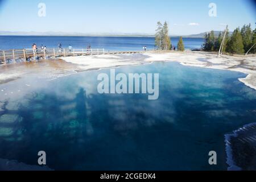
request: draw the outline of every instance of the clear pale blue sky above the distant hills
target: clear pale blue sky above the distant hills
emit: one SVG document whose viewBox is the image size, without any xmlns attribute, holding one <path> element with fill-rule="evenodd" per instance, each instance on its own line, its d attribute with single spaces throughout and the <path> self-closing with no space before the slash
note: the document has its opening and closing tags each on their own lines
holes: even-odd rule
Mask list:
<svg viewBox="0 0 256 182">
<path fill-rule="evenodd" d="M 171 35 L 230 30 L 251 23 L 256 9 L 249 0 L 0 0 L 0 31 L 118 32 L 154 34 L 156 22 L 167 20 Z M 46 17 L 38 4 L 46 4 Z M 216 3 L 217 17 L 210 17 Z M 189 23 L 194 25 L 189 25 Z"/>
</svg>

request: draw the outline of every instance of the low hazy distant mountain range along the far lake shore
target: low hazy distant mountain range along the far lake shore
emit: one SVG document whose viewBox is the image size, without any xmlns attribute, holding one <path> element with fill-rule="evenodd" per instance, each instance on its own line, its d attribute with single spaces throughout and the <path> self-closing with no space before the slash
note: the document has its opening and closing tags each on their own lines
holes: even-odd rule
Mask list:
<svg viewBox="0 0 256 182">
<path fill-rule="evenodd" d="M 221 31 L 214 31 L 214 35 L 218 36 Z M 205 34 L 208 32 L 193 34 L 193 35 L 184 35 L 183 38 L 204 38 Z M 232 32 L 231 32 L 232 33 Z M 141 34 L 141 33 L 88 33 L 84 34 L 81 32 L 11 32 L 11 31 L 0 31 L 0 35 L 11 35 L 11 36 L 154 36 L 152 34 Z M 178 35 L 171 35 L 171 37 L 179 37 Z"/>
</svg>

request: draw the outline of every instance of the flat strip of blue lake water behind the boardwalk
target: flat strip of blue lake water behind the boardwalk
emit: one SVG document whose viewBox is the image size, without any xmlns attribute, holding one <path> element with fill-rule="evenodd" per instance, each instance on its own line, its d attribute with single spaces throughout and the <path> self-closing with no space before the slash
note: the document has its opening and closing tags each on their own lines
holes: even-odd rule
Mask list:
<svg viewBox="0 0 256 182">
<path fill-rule="evenodd" d="M 179 38 L 171 38 L 172 45 L 177 47 Z M 186 49 L 200 48 L 204 39 L 183 38 Z M 69 44 L 73 48 L 105 48 L 106 51 L 139 51 L 143 46 L 154 49 L 155 39 L 152 37 L 79 37 L 79 36 L 0 36 L 0 49 L 31 48 L 36 43 L 38 48 L 43 44 L 48 48 L 56 48 L 58 43 L 63 47 Z"/>
</svg>

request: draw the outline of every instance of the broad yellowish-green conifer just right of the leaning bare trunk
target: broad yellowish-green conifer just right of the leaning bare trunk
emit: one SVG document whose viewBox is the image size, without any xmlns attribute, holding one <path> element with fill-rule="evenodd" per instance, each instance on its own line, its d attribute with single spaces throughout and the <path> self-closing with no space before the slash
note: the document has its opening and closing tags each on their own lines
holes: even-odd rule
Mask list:
<svg viewBox="0 0 256 182">
<path fill-rule="evenodd" d="M 241 31 L 240 28 L 236 28 L 236 30 L 234 30 L 228 44 L 227 44 L 227 51 L 230 53 L 244 53 L 244 49 L 243 49 L 243 40 L 242 40 L 242 35 L 241 35 Z"/>
</svg>

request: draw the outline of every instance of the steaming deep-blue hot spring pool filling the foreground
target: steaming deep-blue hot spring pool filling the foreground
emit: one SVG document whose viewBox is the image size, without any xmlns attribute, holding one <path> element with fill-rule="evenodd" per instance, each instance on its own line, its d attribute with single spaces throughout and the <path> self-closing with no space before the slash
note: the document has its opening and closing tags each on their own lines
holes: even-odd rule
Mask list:
<svg viewBox="0 0 256 182">
<path fill-rule="evenodd" d="M 0 85 L 13 92 L 0 95 L 0 159 L 37 165 L 43 150 L 56 170 L 226 170 L 224 135 L 256 121 L 243 73 L 165 62 L 115 71 L 159 73 L 159 99 L 98 94 L 109 69 Z"/>
</svg>

